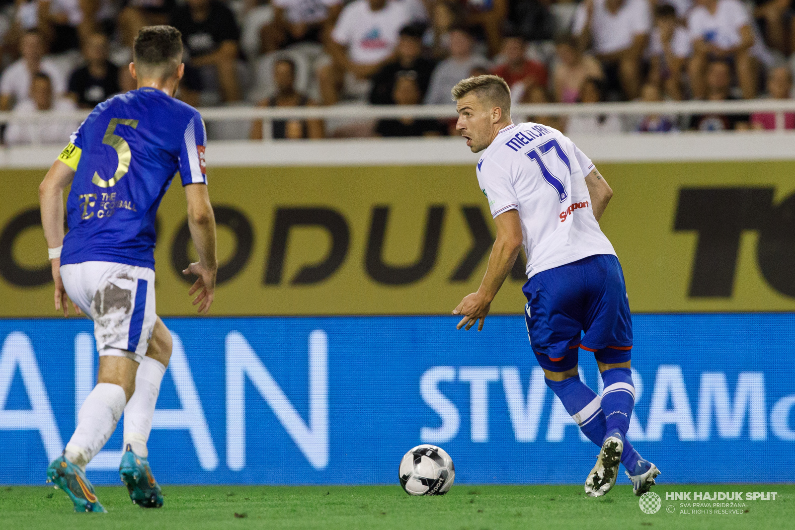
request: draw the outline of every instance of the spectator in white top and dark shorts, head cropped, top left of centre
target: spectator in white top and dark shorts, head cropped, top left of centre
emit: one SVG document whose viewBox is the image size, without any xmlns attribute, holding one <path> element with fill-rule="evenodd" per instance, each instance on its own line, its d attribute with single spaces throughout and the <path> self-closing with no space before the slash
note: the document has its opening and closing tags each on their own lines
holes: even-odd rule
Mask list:
<svg viewBox="0 0 795 530">
<path fill-rule="evenodd" d="M 300 42 L 325 43 L 342 10 L 341 0 L 273 0 L 273 21 L 262 26 L 262 51 Z"/>
</svg>

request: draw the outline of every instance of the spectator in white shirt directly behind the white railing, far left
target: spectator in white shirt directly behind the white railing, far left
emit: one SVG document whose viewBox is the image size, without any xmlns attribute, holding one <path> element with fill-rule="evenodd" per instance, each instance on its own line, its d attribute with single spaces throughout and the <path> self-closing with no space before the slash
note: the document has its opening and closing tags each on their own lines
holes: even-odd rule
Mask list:
<svg viewBox="0 0 795 530">
<path fill-rule="evenodd" d="M 29 98 L 23 99 L 14 107 L 14 114 L 30 117 L 44 110 L 65 112 L 75 109 L 75 103 L 71 99 L 53 96 L 52 83 L 47 74 L 37 73 L 33 75 L 33 81 L 30 83 Z M 63 144 L 79 125 L 79 122 L 72 120 L 45 122 L 27 119 L 22 122 L 11 122 L 6 129 L 6 143 L 9 145 Z"/>
</svg>

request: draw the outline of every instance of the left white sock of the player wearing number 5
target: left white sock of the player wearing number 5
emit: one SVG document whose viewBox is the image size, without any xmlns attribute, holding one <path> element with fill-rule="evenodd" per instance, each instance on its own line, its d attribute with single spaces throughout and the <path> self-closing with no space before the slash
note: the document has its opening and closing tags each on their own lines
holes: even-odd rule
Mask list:
<svg viewBox="0 0 795 530">
<path fill-rule="evenodd" d="M 66 444 L 69 462 L 85 469 L 116 430 L 126 400 L 121 386 L 97 383 L 80 407 L 75 434 Z"/>
</svg>

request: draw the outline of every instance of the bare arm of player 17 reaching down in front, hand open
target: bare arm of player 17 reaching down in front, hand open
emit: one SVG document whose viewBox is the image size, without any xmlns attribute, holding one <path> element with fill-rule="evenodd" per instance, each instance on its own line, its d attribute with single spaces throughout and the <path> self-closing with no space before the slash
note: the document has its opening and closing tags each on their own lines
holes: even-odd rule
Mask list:
<svg viewBox="0 0 795 530">
<path fill-rule="evenodd" d="M 506 211 L 494 219 L 497 225 L 497 238 L 491 248 L 489 265 L 480 288 L 477 292 L 467 295 L 461 300 L 453 311 L 453 315 L 463 315 L 456 328 L 466 326 L 469 329 L 480 320 L 478 331 L 483 329 L 483 321 L 491 308 L 491 300 L 497 296 L 499 288 L 505 282 L 514 267 L 514 262 L 522 248 L 522 223 L 519 221 L 519 213 L 516 210 Z"/>
</svg>

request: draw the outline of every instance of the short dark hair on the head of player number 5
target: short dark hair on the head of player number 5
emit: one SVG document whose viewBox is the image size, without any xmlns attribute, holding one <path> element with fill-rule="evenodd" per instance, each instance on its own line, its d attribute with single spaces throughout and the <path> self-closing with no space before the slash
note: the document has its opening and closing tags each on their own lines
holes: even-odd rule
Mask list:
<svg viewBox="0 0 795 530">
<path fill-rule="evenodd" d="M 138 32 L 133 60 L 140 75 L 167 79 L 182 62 L 182 33 L 170 25 L 150 25 Z"/>
</svg>

